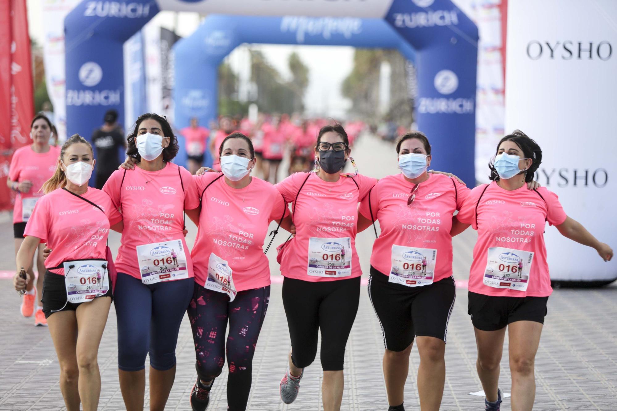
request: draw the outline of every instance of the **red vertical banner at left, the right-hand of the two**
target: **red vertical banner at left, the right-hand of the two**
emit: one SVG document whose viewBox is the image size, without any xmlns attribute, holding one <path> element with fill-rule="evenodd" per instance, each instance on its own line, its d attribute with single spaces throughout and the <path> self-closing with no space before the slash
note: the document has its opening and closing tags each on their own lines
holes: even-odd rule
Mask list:
<svg viewBox="0 0 617 411">
<path fill-rule="evenodd" d="M 30 122 L 34 116 L 34 86 L 30 35 L 28 35 L 28 12 L 26 0 L 10 0 L 10 138 L 13 151 L 30 144 Z"/>
</svg>

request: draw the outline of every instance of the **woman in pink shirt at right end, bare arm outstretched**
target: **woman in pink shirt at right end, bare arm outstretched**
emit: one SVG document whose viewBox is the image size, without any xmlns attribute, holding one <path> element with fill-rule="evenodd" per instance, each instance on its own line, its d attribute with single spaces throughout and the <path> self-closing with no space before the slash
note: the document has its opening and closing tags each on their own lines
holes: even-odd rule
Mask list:
<svg viewBox="0 0 617 411">
<path fill-rule="evenodd" d="M 469 278 L 471 322 L 478 345 L 478 376 L 487 410 L 499 410 L 499 362 L 508 326 L 512 409 L 531 410 L 536 393 L 534 359 L 552 293 L 544 229 L 593 247 L 608 261 L 613 250 L 568 217 L 557 195 L 546 188 L 529 191 L 542 151 L 522 131 L 497 144 L 489 185 L 471 190 L 455 218 L 452 235 L 469 225 L 478 230 Z M 519 267 L 522 265 L 523 272 Z"/>
</svg>

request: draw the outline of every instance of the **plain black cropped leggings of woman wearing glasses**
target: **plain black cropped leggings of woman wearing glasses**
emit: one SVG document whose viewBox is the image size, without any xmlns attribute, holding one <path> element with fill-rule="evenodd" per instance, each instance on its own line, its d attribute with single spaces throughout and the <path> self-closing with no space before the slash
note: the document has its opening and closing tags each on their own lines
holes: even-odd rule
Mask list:
<svg viewBox="0 0 617 411">
<path fill-rule="evenodd" d="M 347 338 L 360 302 L 360 277 L 336 281 L 283 280 L 283 305 L 291 338 L 291 360 L 308 367 L 317 355 L 321 329 L 321 368 L 343 369 Z"/>
</svg>

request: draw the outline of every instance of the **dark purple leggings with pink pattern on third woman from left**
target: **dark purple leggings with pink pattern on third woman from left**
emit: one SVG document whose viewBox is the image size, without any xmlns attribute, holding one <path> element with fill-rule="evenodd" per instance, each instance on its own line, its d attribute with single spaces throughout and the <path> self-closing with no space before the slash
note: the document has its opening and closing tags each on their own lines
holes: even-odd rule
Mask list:
<svg viewBox="0 0 617 411">
<path fill-rule="evenodd" d="M 228 410 L 244 411 L 251 391 L 255 345 L 270 301 L 270 286 L 239 291 L 234 301 L 225 293 L 205 289 L 195 283 L 188 314 L 193 328 L 197 375 L 204 381 L 217 378 L 225 364 L 229 377 Z M 227 322 L 230 333 L 225 344 Z"/>
</svg>

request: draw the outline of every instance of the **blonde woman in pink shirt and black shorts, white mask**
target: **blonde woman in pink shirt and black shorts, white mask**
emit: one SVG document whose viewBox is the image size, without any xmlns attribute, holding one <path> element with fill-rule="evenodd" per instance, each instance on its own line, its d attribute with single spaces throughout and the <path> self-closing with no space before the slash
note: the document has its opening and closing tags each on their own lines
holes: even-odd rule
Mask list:
<svg viewBox="0 0 617 411">
<path fill-rule="evenodd" d="M 60 365 L 60 391 L 69 411 L 94 411 L 101 394 L 97 353 L 112 301 L 106 260 L 109 228 L 122 231 L 122 216 L 107 194 L 88 187 L 92 147 L 79 135 L 62 146 L 46 193 L 36 202 L 17 253 L 15 289 L 31 282 L 19 277 L 40 243 L 52 251 L 45 260 L 43 312 Z M 103 273 L 99 283 L 97 273 Z M 43 276 L 43 273 L 41 273 Z M 98 286 L 98 285 L 101 286 Z"/>
</svg>

